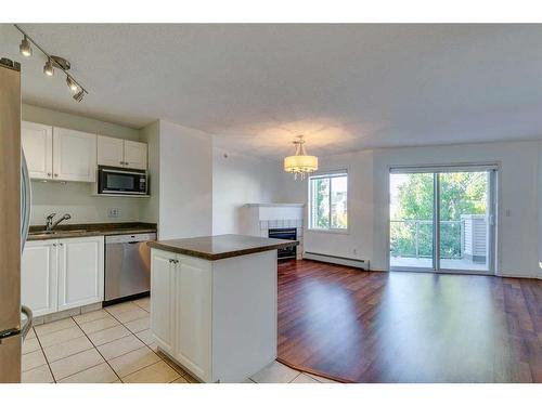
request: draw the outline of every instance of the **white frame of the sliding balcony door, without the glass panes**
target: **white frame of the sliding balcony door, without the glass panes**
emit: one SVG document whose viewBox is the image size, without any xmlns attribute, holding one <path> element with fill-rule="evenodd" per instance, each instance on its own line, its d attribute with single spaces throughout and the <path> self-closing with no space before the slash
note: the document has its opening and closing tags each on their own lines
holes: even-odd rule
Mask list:
<svg viewBox="0 0 542 406">
<path fill-rule="evenodd" d="M 500 267 L 500 241 L 501 241 L 501 227 L 499 224 L 501 222 L 500 213 L 500 171 L 501 162 L 479 162 L 479 163 L 450 163 L 450 165 L 410 165 L 410 166 L 388 166 L 387 171 L 387 232 L 386 232 L 386 257 L 388 271 L 399 271 L 399 272 L 430 272 L 435 274 L 462 274 L 462 275 L 499 275 Z M 440 179 L 438 173 L 443 172 L 476 172 L 476 171 L 488 171 L 489 175 L 489 191 L 488 191 L 488 208 L 490 217 L 490 232 L 488 235 L 488 271 L 476 271 L 476 270 L 451 270 L 440 267 Z M 390 175 L 392 173 L 433 173 L 434 174 L 434 238 L 433 238 L 433 267 L 412 267 L 412 266 L 391 266 L 391 256 L 389 251 L 390 247 L 390 225 L 391 219 L 389 213 L 390 204 Z"/>
</svg>

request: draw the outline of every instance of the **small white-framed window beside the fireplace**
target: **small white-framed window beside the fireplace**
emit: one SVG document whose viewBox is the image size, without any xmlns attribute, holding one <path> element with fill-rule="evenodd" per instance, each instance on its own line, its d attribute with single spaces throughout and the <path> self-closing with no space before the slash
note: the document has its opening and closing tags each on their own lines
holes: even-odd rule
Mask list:
<svg viewBox="0 0 542 406">
<path fill-rule="evenodd" d="M 348 175 L 345 172 L 309 178 L 309 230 L 348 228 Z"/>
</svg>

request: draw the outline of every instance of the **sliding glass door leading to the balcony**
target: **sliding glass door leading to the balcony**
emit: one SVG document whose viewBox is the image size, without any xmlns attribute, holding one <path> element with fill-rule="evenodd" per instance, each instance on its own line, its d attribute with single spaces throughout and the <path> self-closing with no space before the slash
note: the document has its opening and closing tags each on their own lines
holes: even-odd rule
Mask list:
<svg viewBox="0 0 542 406">
<path fill-rule="evenodd" d="M 492 274 L 495 169 L 390 173 L 391 270 Z"/>
</svg>

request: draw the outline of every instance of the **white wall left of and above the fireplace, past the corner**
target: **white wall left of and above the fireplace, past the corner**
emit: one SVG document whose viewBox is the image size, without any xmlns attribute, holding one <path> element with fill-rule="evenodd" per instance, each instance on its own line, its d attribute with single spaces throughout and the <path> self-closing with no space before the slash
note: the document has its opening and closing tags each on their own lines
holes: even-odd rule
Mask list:
<svg viewBox="0 0 542 406">
<path fill-rule="evenodd" d="M 240 234 L 241 210 L 284 199 L 281 162 L 214 148 L 212 234 Z"/>
</svg>

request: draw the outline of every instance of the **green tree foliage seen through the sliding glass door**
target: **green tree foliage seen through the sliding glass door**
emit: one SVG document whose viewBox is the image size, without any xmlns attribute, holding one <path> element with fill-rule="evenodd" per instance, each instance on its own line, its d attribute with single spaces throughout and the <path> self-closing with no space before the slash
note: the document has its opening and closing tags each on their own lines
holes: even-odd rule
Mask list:
<svg viewBox="0 0 542 406">
<path fill-rule="evenodd" d="M 486 172 L 454 172 L 440 175 L 440 257 L 461 258 L 461 214 L 485 214 L 487 200 Z M 431 173 L 409 175 L 399 186 L 399 210 L 391 223 L 391 254 L 433 257 L 434 176 Z"/>
</svg>

